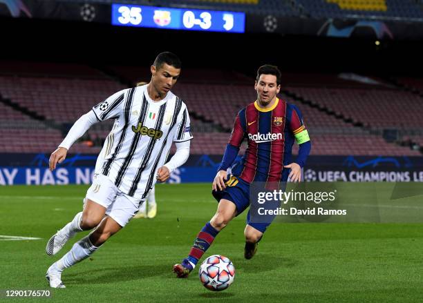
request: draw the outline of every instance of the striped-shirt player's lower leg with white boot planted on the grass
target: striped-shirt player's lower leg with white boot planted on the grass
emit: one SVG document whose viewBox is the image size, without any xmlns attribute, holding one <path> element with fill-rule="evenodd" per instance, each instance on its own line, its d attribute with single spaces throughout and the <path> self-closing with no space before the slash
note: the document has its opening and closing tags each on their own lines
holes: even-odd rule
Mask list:
<svg viewBox="0 0 423 303">
<path fill-rule="evenodd" d="M 62 272 L 65 268 L 71 267 L 86 259 L 104 244 L 112 235 L 118 233 L 122 226 L 109 216 L 104 217 L 95 230 L 73 244 L 71 251 L 68 251 L 59 261 L 53 263 L 47 270 L 46 279 L 53 288 L 64 288 L 62 283 Z"/>
</svg>

